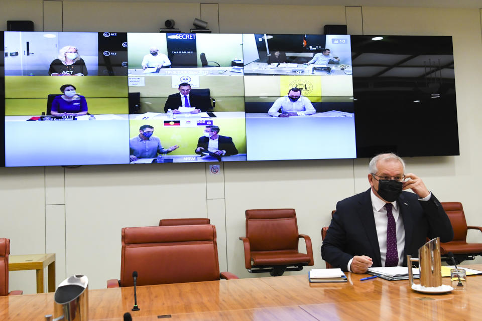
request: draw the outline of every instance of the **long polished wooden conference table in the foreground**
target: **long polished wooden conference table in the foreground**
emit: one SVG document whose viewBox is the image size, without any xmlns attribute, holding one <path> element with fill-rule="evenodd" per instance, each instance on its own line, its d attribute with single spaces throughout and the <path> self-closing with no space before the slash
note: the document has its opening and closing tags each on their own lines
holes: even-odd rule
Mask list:
<svg viewBox="0 0 482 321">
<path fill-rule="evenodd" d="M 481 269 L 482 265 L 469 265 Z M 482 315 L 482 276 L 468 276 L 465 291 L 423 294 L 408 281 L 308 282 L 307 275 L 245 278 L 89 291 L 89 320 L 461 320 Z M 443 278 L 449 284 L 450 278 Z M 44 320 L 53 293 L 0 297 L 0 320 Z M 168 316 L 170 315 L 170 317 Z"/>
</svg>

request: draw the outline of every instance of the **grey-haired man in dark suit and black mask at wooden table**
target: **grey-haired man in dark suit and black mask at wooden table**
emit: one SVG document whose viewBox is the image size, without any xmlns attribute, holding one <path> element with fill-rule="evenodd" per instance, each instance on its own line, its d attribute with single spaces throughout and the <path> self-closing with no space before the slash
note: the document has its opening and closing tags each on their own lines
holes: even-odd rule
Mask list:
<svg viewBox="0 0 482 321">
<path fill-rule="evenodd" d="M 452 240 L 440 202 L 419 177 L 404 173 L 405 164 L 394 153 L 372 158 L 371 188 L 336 204 L 321 246 L 323 260 L 343 271 L 365 273 L 371 266 L 407 266 L 407 254 L 418 257 L 427 237 Z"/>
</svg>

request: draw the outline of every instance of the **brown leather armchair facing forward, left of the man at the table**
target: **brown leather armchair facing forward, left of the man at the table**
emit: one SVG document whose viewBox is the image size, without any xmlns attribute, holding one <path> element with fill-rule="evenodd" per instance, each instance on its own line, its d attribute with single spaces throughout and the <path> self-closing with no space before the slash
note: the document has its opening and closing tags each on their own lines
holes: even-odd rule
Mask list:
<svg viewBox="0 0 482 321">
<path fill-rule="evenodd" d="M 298 239 L 304 238 L 307 254 L 298 252 Z M 298 234 L 294 209 L 246 211 L 246 237 L 239 237 L 245 247 L 245 266 L 250 273 L 301 271 L 314 265 L 311 239 Z"/>
</svg>

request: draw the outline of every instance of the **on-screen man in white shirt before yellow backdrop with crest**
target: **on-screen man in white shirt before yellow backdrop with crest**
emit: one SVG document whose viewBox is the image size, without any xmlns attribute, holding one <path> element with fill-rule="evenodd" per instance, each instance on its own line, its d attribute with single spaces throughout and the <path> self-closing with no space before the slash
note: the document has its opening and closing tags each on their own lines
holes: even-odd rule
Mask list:
<svg viewBox="0 0 482 321">
<path fill-rule="evenodd" d="M 281 109 L 281 112 L 278 110 Z M 288 95 L 276 99 L 268 114 L 273 117 L 312 115 L 316 112 L 311 101 L 301 96 L 301 89 L 291 88 Z"/>
</svg>

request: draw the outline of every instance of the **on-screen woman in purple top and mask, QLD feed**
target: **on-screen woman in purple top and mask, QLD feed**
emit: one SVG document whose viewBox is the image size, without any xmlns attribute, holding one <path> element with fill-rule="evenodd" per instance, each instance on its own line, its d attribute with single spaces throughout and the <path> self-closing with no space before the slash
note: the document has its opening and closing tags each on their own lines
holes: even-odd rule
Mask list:
<svg viewBox="0 0 482 321">
<path fill-rule="evenodd" d="M 83 116 L 87 114 L 87 101 L 84 96 L 77 95 L 74 85 L 62 85 L 60 91 L 63 95 L 55 96 L 52 101 L 50 113 L 52 116 Z"/>
</svg>

